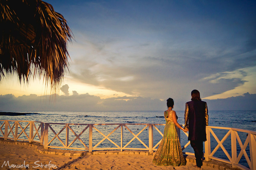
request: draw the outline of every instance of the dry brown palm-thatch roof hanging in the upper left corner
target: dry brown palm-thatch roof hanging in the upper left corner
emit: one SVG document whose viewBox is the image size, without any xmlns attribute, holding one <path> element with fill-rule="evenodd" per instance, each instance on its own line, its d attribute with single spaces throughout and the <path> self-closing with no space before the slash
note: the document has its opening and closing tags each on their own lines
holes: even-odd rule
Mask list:
<svg viewBox="0 0 256 170">
<path fill-rule="evenodd" d="M 20 83 L 43 77 L 58 87 L 68 68 L 67 21 L 41 0 L 0 0 L 0 82 L 17 73 Z"/>
</svg>

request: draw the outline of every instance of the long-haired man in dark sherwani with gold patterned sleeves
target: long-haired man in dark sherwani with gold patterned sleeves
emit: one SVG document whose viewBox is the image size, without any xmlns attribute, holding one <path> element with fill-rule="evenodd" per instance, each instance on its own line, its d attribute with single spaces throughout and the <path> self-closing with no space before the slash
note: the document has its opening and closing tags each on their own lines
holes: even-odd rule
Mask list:
<svg viewBox="0 0 256 170">
<path fill-rule="evenodd" d="M 195 151 L 196 167 L 203 165 L 203 142 L 206 141 L 205 128 L 208 126 L 207 103 L 201 101 L 198 90 L 191 92 L 191 101 L 186 103 L 185 126 L 189 130 L 190 144 Z"/>
</svg>

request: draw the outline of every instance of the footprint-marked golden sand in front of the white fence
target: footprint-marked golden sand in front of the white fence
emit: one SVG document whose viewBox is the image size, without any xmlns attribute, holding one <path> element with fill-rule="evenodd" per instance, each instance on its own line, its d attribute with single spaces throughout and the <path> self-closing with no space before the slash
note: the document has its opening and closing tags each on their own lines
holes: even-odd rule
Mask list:
<svg viewBox="0 0 256 170">
<path fill-rule="evenodd" d="M 8 140 L 9 141 L 9 140 Z M 11 143 L 11 144 L 10 144 Z M 24 144 L 26 143 L 26 144 Z M 0 140 L 0 169 L 85 169 L 85 170 L 195 170 L 195 160 L 190 156 L 186 158 L 186 166 L 156 166 L 152 163 L 153 155 L 141 154 L 85 154 L 83 156 L 67 156 L 58 154 L 39 153 L 39 145 L 28 142 L 5 142 Z M 42 147 L 42 146 L 41 146 Z M 56 151 L 56 150 L 55 150 Z M 63 152 L 61 150 L 58 150 Z M 25 161 L 25 162 L 24 162 Z M 8 165 L 9 163 L 9 165 Z M 207 164 L 202 169 L 227 169 L 226 167 Z M 20 168 L 13 168 L 14 166 Z M 10 167 L 11 168 L 10 168 Z"/>
</svg>

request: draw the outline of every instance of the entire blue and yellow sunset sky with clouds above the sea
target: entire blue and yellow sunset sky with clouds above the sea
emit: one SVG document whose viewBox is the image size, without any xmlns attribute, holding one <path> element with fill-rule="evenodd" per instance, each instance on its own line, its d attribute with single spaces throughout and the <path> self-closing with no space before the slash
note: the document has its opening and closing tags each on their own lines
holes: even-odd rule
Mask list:
<svg viewBox="0 0 256 170">
<path fill-rule="evenodd" d="M 255 1 L 46 2 L 73 32 L 69 72 L 50 102 L 42 79 L 2 80 L 4 111 L 7 99 L 17 111 L 62 110 L 67 103 L 86 111 L 164 110 L 171 97 L 174 109 L 184 110 L 193 89 L 215 104 L 256 94 Z M 31 101 L 38 106 L 28 107 Z M 212 110 L 226 110 L 215 104 Z"/>
</svg>

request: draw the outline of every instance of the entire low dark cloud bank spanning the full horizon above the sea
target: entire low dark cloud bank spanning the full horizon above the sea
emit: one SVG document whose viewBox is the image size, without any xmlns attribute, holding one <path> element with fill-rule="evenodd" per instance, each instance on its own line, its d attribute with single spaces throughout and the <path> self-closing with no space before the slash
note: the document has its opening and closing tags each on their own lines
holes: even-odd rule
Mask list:
<svg viewBox="0 0 256 170">
<path fill-rule="evenodd" d="M 126 101 L 127 100 L 127 101 Z M 245 93 L 243 96 L 226 99 L 204 100 L 209 110 L 256 110 L 256 94 Z M 184 110 L 186 101 L 176 101 L 175 110 Z M 184 107 L 183 107 L 184 106 Z M 100 99 L 98 96 L 73 95 L 37 96 L 30 94 L 15 97 L 12 94 L 0 95 L 0 110 L 3 112 L 19 111 L 156 111 L 166 109 L 166 101 L 147 97 L 112 97 Z"/>
</svg>

